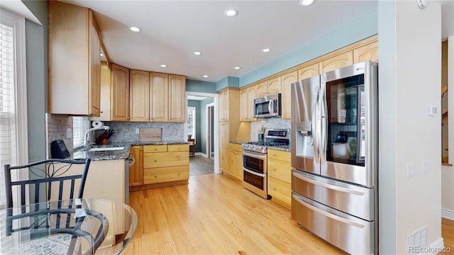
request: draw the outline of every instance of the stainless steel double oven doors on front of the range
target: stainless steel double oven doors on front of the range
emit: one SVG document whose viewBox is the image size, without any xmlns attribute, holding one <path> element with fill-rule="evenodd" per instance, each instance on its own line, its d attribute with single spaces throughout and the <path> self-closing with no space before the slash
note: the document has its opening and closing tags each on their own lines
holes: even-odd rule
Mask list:
<svg viewBox="0 0 454 255">
<path fill-rule="evenodd" d="M 262 198 L 269 198 L 266 154 L 243 150 L 243 187 Z"/>
</svg>

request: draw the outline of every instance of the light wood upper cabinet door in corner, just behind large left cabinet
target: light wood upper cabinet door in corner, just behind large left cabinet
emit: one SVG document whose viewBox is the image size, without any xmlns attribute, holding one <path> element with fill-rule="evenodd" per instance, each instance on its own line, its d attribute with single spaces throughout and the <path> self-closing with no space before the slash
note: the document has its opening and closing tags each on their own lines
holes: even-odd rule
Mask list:
<svg viewBox="0 0 454 255">
<path fill-rule="evenodd" d="M 111 121 L 111 69 L 107 62 L 101 62 L 101 111 L 99 117 L 90 120 Z"/>
</svg>

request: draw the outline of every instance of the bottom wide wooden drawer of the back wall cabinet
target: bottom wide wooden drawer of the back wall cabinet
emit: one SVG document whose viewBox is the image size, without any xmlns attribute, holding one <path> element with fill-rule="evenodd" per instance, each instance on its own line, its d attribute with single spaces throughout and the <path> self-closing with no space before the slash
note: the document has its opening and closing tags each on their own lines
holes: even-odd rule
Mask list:
<svg viewBox="0 0 454 255">
<path fill-rule="evenodd" d="M 189 179 L 189 166 L 143 169 L 144 184 L 166 183 L 169 181 L 183 181 L 187 179 Z"/>
</svg>

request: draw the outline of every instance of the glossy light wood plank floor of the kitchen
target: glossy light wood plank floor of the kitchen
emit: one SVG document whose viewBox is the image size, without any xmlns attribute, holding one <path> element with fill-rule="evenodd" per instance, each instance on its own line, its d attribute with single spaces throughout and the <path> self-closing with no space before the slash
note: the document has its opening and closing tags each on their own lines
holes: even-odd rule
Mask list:
<svg viewBox="0 0 454 255">
<path fill-rule="evenodd" d="M 130 193 L 138 227 L 123 254 L 344 254 L 299 227 L 290 210 L 221 174 Z M 442 220 L 454 249 L 454 221 Z"/>
</svg>

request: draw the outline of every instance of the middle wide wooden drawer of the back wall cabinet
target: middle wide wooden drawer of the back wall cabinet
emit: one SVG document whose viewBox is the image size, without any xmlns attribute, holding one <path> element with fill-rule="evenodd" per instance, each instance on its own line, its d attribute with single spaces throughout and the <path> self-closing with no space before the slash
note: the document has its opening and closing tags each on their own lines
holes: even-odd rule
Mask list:
<svg viewBox="0 0 454 255">
<path fill-rule="evenodd" d="M 156 152 L 143 154 L 143 168 L 189 165 L 187 152 Z"/>
</svg>

